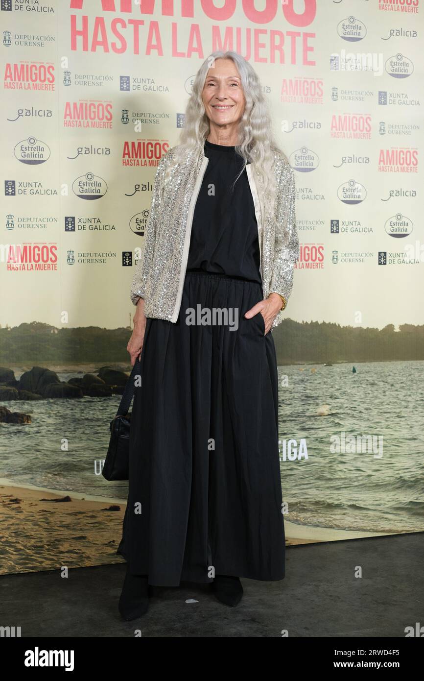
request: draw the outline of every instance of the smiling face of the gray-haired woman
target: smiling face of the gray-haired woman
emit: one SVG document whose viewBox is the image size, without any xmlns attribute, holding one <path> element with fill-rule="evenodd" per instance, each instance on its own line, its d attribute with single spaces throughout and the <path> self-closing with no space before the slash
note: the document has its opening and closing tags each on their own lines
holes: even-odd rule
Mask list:
<svg viewBox="0 0 424 681">
<path fill-rule="evenodd" d="M 220 127 L 239 123 L 246 100 L 232 59 L 214 61 L 206 76 L 202 99 L 210 123 Z"/>
</svg>

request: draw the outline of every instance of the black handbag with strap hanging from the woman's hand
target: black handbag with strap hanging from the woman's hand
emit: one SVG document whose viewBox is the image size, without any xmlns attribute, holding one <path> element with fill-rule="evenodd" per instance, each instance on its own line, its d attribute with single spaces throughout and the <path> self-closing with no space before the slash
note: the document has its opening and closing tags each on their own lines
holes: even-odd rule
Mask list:
<svg viewBox="0 0 424 681">
<path fill-rule="evenodd" d="M 129 405 L 135 390 L 134 377 L 141 373 L 141 363 L 137 358 L 133 369 L 125 384 L 123 396 L 120 400 L 116 416 L 110 422 L 110 441 L 108 454 L 101 475 L 106 480 L 128 480 L 129 477 L 129 429 L 131 426 L 131 411 Z"/>
</svg>

